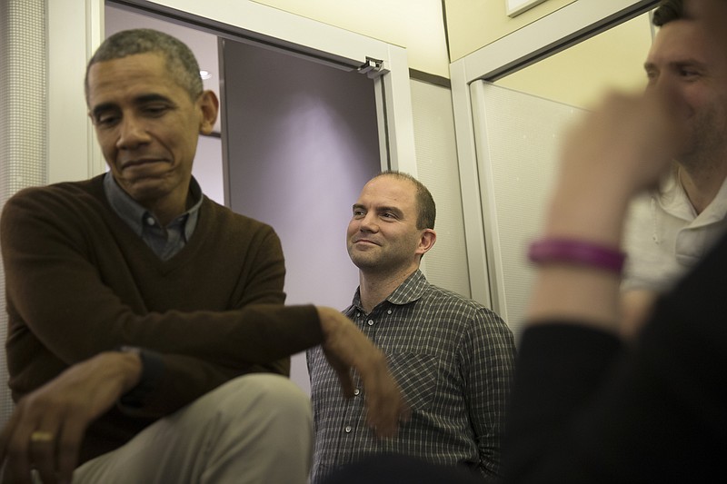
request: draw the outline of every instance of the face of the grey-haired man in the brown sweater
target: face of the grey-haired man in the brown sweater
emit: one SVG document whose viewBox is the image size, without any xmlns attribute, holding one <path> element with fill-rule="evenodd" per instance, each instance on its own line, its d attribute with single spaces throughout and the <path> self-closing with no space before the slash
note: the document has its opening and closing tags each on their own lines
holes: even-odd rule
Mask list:
<svg viewBox="0 0 727 484">
<path fill-rule="evenodd" d="M 212 131 L 214 94 L 192 100 L 160 54 L 91 66 L 88 110 L 106 163 L 126 193 L 147 208 L 186 199 L 199 133 Z"/>
</svg>

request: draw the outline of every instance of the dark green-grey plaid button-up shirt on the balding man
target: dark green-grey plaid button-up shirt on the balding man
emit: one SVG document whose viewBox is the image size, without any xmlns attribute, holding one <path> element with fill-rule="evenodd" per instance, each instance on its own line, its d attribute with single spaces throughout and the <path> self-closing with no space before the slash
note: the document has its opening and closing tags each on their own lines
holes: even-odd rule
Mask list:
<svg viewBox="0 0 727 484">
<path fill-rule="evenodd" d="M 365 394 L 345 400 L 323 351 L 308 351 L 314 405 L 313 484 L 367 454 L 395 452 L 465 464 L 484 477 L 500 469 L 503 414 L 515 358 L 513 333 L 493 311 L 413 272 L 369 314 L 359 291 L 344 313 L 386 354 L 412 409 L 396 437 L 366 426 Z"/>
</svg>

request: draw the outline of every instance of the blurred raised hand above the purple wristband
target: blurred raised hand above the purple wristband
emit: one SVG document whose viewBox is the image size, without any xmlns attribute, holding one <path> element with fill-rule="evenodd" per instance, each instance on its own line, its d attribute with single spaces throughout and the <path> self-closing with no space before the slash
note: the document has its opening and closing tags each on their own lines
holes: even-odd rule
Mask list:
<svg viewBox="0 0 727 484">
<path fill-rule="evenodd" d="M 572 202 L 580 201 L 575 195 L 588 200 L 606 191 L 628 201 L 658 183 L 686 147 L 689 114 L 679 94 L 668 90 L 609 94 L 566 133 L 560 185 L 578 189 Z"/>
</svg>

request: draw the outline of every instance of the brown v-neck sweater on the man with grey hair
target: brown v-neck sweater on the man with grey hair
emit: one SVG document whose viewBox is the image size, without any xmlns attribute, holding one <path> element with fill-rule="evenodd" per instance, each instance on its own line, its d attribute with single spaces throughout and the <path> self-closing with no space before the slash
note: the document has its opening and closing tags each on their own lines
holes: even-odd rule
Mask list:
<svg viewBox="0 0 727 484">
<path fill-rule="evenodd" d="M 120 345 L 164 362 L 139 412 L 115 408 L 92 424 L 82 460 L 235 376 L 287 374 L 287 357 L 323 338 L 313 306 L 283 306 L 271 227 L 204 197 L 194 235 L 164 262 L 115 214 L 102 181 L 26 189 L 0 219 L 15 400 Z"/>
</svg>

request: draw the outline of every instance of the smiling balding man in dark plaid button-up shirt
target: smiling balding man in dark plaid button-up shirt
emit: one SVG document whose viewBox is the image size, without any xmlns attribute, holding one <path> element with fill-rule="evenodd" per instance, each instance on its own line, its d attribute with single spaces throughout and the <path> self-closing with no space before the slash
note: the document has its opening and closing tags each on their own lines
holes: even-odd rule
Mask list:
<svg viewBox="0 0 727 484">
<path fill-rule="evenodd" d="M 411 417 L 393 438 L 377 438 L 364 425 L 364 389 L 344 399 L 324 351 L 308 351 L 314 484 L 384 453 L 461 467 L 452 470 L 469 470 L 475 481 L 499 474 L 513 334 L 493 311 L 433 286 L 419 271 L 436 241 L 434 217 L 431 193 L 405 173 L 379 174 L 354 203 L 346 242 L 360 285 L 344 313 L 386 354 Z"/>
</svg>

